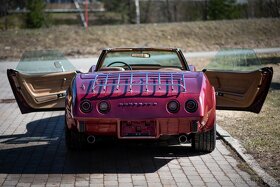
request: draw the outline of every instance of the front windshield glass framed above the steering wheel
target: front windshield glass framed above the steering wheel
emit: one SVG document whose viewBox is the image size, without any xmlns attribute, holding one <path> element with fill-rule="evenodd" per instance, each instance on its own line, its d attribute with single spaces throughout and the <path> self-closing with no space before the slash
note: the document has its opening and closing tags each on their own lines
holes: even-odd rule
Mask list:
<svg viewBox="0 0 280 187">
<path fill-rule="evenodd" d="M 114 63 L 115 62 L 115 63 Z M 135 66 L 175 67 L 183 69 L 175 51 L 109 51 L 101 67 Z"/>
</svg>

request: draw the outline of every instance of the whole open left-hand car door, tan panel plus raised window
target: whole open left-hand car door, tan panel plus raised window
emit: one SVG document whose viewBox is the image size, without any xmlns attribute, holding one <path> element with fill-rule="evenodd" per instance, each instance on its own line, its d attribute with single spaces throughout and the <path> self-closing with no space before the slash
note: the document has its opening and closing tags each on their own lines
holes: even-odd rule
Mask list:
<svg viewBox="0 0 280 187">
<path fill-rule="evenodd" d="M 57 51 L 25 52 L 8 79 L 22 114 L 64 110 L 75 67 Z"/>
</svg>

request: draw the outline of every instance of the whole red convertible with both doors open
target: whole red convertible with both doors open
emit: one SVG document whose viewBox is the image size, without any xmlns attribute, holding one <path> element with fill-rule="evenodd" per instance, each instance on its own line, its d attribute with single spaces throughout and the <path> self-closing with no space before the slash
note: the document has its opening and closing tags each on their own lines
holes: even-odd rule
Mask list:
<svg viewBox="0 0 280 187">
<path fill-rule="evenodd" d="M 224 50 L 196 71 L 179 49 L 115 48 L 85 73 L 56 51 L 27 52 L 7 75 L 23 114 L 65 110 L 69 149 L 111 137 L 211 152 L 216 109 L 259 113 L 273 70 L 252 50 Z"/>
</svg>

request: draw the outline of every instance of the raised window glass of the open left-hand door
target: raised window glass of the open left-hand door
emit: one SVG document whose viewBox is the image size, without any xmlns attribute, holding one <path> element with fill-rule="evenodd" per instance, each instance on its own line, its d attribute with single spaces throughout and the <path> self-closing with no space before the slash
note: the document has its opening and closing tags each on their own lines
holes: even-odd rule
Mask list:
<svg viewBox="0 0 280 187">
<path fill-rule="evenodd" d="M 24 52 L 16 70 L 33 74 L 69 72 L 76 68 L 59 51 L 42 50 Z"/>
</svg>

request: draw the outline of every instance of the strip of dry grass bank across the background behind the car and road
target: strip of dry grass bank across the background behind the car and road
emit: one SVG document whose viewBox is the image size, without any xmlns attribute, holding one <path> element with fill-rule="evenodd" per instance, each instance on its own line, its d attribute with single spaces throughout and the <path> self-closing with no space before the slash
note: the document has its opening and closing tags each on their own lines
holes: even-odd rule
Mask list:
<svg viewBox="0 0 280 187">
<path fill-rule="evenodd" d="M 221 47 L 279 47 L 280 19 L 170 24 L 59 26 L 0 31 L 0 59 L 26 50 L 58 49 L 68 56 L 97 55 L 107 47 L 179 47 L 185 52 Z"/>
</svg>

